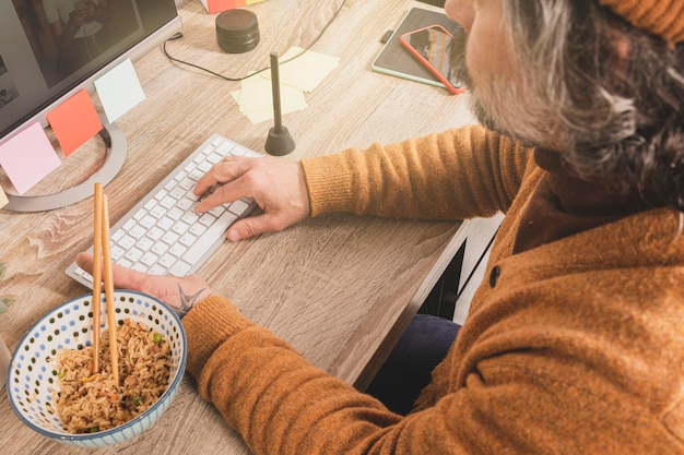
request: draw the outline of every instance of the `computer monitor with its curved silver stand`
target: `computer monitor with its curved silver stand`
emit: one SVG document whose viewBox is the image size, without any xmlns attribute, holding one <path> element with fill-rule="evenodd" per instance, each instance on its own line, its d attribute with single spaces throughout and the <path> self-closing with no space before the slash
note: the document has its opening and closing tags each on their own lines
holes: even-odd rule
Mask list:
<svg viewBox="0 0 684 455">
<path fill-rule="evenodd" d="M 46 115 L 66 99 L 93 93 L 107 71 L 179 32 L 176 1 L 0 0 L 0 146 L 35 122 L 48 128 Z M 90 196 L 94 181 L 109 182 L 127 146 L 120 129 L 104 117 L 103 124 L 107 156 L 86 181 L 54 194 L 8 193 L 3 208 L 52 209 Z"/>
</svg>

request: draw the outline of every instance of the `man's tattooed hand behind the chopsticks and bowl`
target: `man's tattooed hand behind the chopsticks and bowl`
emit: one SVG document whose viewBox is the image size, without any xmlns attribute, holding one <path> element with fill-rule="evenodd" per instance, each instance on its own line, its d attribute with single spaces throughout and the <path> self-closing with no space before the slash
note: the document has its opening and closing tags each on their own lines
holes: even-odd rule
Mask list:
<svg viewBox="0 0 684 455">
<path fill-rule="evenodd" d="M 93 273 L 93 255 L 79 253 L 76 264 L 87 273 Z M 200 300 L 213 292 L 207 282 L 198 275 L 182 278 L 175 276 L 156 276 L 131 271 L 113 264 L 114 287 L 130 289 L 156 297 L 168 304 L 181 318 Z"/>
</svg>

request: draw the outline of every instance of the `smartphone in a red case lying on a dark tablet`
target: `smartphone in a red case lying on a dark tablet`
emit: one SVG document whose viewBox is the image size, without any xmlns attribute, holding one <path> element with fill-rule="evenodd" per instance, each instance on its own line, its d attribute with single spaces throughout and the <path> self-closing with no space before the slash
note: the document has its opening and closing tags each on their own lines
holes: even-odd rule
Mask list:
<svg viewBox="0 0 684 455">
<path fill-rule="evenodd" d="M 456 77 L 449 60 L 449 45 L 453 39 L 441 25 L 429 25 L 404 33 L 399 40 L 421 63 L 423 63 L 452 94 L 468 88 Z"/>
</svg>

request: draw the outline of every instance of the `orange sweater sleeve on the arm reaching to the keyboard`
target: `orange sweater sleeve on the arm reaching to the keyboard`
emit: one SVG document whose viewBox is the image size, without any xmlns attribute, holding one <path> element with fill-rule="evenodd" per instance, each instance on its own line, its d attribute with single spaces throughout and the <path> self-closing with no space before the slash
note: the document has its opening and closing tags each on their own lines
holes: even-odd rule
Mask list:
<svg viewBox="0 0 684 455">
<path fill-rule="evenodd" d="M 302 161 L 311 215 L 465 219 L 506 212 L 529 151 L 480 125 Z"/>
</svg>

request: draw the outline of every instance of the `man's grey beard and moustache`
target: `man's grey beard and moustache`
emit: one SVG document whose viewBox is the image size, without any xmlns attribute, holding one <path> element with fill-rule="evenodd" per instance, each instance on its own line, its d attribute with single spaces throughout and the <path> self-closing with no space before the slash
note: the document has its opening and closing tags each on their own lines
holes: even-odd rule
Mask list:
<svg viewBox="0 0 684 455">
<path fill-rule="evenodd" d="M 458 28 L 449 44 L 449 61 L 457 77 L 470 92 L 470 109 L 488 130 L 527 147 L 550 151 L 567 148 L 567 130 L 534 84 L 523 74 L 490 73 L 486 81 L 473 81 L 467 65 L 468 35 Z"/>
</svg>

